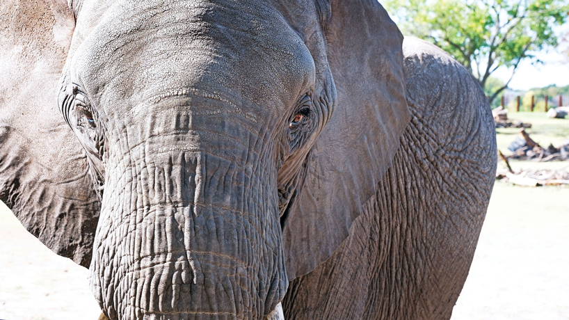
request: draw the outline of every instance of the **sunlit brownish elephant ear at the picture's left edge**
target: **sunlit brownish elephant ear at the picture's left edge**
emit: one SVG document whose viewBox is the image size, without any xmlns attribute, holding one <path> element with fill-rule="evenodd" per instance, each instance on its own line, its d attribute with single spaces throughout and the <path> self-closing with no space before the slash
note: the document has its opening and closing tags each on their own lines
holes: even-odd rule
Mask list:
<svg viewBox="0 0 569 320">
<path fill-rule="evenodd" d="M 56 99 L 74 23 L 65 0 L 0 2 L 0 200 L 51 250 L 88 267 L 100 204 Z"/>
</svg>

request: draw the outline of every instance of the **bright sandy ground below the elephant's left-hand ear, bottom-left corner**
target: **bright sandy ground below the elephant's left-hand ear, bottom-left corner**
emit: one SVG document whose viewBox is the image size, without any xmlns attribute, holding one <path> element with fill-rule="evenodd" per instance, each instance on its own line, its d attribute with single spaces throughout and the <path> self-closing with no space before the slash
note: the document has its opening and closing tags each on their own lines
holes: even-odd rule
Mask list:
<svg viewBox="0 0 569 320">
<path fill-rule="evenodd" d="M 88 270 L 26 232 L 0 202 L 0 319 L 97 320 Z"/>
</svg>

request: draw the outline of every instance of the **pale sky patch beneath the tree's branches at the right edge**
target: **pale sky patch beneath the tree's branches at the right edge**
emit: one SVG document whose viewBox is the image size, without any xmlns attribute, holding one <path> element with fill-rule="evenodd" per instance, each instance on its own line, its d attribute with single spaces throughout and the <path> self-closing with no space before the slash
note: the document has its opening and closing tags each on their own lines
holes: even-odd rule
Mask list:
<svg viewBox="0 0 569 320">
<path fill-rule="evenodd" d="M 540 52 L 536 56 L 543 61 L 543 64 L 532 65 L 530 61 L 522 61 L 518 70 L 515 71 L 509 88 L 529 90 L 550 84 L 555 84 L 558 87 L 569 84 L 569 55 L 550 51 Z M 511 76 L 511 70 L 501 67 L 492 76 L 506 82 Z"/>
</svg>

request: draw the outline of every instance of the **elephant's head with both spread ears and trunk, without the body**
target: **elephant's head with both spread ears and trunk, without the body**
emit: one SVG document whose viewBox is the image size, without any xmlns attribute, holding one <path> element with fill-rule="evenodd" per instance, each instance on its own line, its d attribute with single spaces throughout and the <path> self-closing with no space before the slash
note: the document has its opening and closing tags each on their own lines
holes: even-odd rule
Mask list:
<svg viewBox="0 0 569 320">
<path fill-rule="evenodd" d="M 401 33 L 372 0 L 68 6 L 0 7 L 1 200 L 111 319 L 266 317 L 390 166 Z"/>
</svg>

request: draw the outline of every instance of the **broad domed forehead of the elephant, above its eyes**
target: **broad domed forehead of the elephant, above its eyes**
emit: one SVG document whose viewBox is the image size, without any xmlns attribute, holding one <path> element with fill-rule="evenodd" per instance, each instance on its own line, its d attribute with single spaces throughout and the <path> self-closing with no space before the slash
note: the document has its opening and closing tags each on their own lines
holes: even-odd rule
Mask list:
<svg viewBox="0 0 569 320">
<path fill-rule="evenodd" d="M 310 51 L 263 1 L 135 6 L 111 7 L 76 51 L 73 67 L 90 95 L 141 104 L 215 83 L 254 104 L 280 106 L 314 85 Z"/>
</svg>

